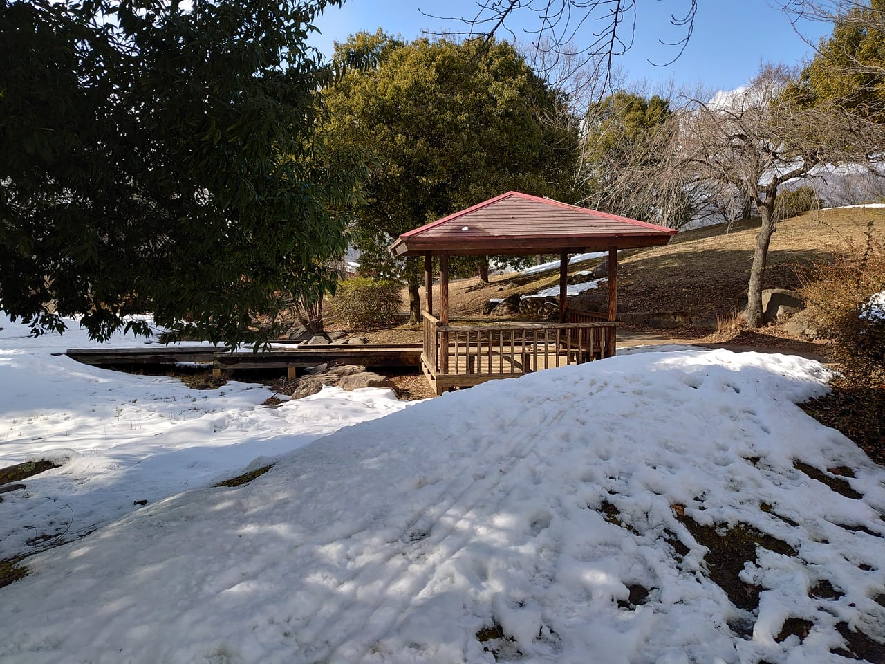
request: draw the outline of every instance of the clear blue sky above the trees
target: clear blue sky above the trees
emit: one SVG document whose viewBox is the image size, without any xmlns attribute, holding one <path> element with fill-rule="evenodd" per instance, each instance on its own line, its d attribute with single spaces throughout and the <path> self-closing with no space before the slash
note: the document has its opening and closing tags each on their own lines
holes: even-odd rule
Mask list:
<svg viewBox="0 0 885 664">
<path fill-rule="evenodd" d="M 678 41 L 684 28 L 670 25 L 671 14 L 684 15 L 689 0 L 637 0 L 635 42 L 619 64 L 630 81 L 668 81 L 694 85 L 698 82 L 712 89 L 735 89 L 758 72 L 761 62 L 794 65 L 810 58 L 811 48 L 802 41 L 789 24 L 789 19 L 778 11 L 778 0 L 698 0 L 694 34 L 675 63 L 666 67 L 650 64 L 666 63 L 677 50 L 664 46 L 659 40 Z M 415 39 L 424 29 L 457 30 L 456 21 L 443 21 L 423 15 L 466 16 L 475 14 L 472 0 L 346 0 L 341 8 L 330 8 L 317 23 L 322 35 L 312 43 L 327 55 L 333 42 L 342 42 L 359 30 L 374 32 L 383 27 L 391 34 Z M 523 13 L 526 20 L 527 13 Z M 525 25 L 525 22 L 523 23 Z M 590 27 L 589 29 L 592 29 Z M 804 23 L 800 29 L 806 37 L 817 42 L 821 35 L 829 35 L 827 24 Z M 530 35 L 519 35 L 528 38 Z"/>
</svg>

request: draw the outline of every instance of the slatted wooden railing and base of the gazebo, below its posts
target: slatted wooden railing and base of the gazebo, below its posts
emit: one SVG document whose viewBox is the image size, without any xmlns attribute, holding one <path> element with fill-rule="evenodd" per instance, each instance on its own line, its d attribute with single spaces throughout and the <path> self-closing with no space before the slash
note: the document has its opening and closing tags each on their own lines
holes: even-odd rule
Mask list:
<svg viewBox="0 0 885 664">
<path fill-rule="evenodd" d="M 443 325 L 432 314 L 423 315 L 421 369 L 436 394 L 610 357 L 618 326 L 592 313 L 565 323 L 472 325 Z"/>
</svg>

